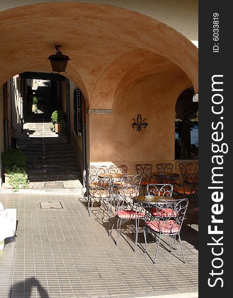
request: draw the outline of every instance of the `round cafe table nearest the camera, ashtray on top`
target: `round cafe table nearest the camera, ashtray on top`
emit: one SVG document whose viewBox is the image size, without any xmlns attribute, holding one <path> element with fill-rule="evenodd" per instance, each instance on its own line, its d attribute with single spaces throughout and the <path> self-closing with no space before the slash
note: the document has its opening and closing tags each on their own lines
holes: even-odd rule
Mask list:
<svg viewBox="0 0 233 298">
<path fill-rule="evenodd" d="M 142 210 L 145 212 L 148 209 L 156 208 L 156 204 L 158 204 L 159 200 L 166 200 L 166 201 L 176 201 L 175 198 L 167 197 L 167 196 L 137 196 L 132 198 L 134 206 L 136 206 L 136 214 L 141 213 Z M 136 236 L 135 236 L 135 247 L 134 251 L 137 249 L 137 240 L 138 240 L 138 229 L 139 229 L 139 219 L 135 221 L 136 225 Z"/>
</svg>

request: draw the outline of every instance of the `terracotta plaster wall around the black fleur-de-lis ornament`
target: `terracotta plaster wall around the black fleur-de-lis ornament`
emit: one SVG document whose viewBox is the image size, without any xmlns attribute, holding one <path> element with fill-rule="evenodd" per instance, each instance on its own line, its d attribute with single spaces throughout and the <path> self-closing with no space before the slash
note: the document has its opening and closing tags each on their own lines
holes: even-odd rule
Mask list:
<svg viewBox="0 0 233 298">
<path fill-rule="evenodd" d="M 91 164 L 175 162 L 175 102 L 191 86 L 183 73 L 148 75 L 118 94 L 111 115 L 90 115 Z M 132 118 L 147 118 L 141 132 L 133 130 Z"/>
</svg>

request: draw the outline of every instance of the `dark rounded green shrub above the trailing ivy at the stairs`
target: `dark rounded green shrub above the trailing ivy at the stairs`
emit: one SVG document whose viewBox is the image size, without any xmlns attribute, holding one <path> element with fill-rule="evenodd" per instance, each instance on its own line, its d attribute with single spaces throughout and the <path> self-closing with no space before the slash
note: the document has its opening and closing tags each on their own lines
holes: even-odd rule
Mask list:
<svg viewBox="0 0 233 298">
<path fill-rule="evenodd" d="M 10 170 L 14 165 L 25 168 L 27 155 L 20 149 L 6 149 L 1 153 L 4 169 Z"/>
</svg>

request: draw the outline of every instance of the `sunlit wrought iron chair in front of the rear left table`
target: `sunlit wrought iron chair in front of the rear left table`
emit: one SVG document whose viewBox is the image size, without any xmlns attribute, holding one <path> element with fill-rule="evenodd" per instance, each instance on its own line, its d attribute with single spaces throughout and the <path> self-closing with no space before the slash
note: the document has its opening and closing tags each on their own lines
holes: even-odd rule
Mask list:
<svg viewBox="0 0 233 298">
<path fill-rule="evenodd" d="M 88 195 L 88 212 L 89 216 L 91 216 L 92 208 L 94 201 L 98 201 L 101 204 L 101 200 L 103 200 L 107 206 L 108 213 L 110 214 L 110 203 L 112 200 L 113 194 L 113 182 L 112 177 L 107 176 L 101 179 L 96 179 L 95 175 L 91 175 L 90 177 L 90 186 L 89 186 L 89 195 Z M 93 177 L 93 179 L 92 179 Z M 91 206 L 91 209 L 90 209 Z"/>
</svg>

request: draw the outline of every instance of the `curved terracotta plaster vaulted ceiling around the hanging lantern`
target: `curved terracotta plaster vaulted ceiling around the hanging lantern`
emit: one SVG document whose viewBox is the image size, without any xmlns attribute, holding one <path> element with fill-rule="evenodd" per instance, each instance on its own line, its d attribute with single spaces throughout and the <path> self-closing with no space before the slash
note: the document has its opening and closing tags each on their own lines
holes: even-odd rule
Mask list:
<svg viewBox="0 0 233 298">
<path fill-rule="evenodd" d="M 198 93 L 197 48 L 173 28 L 115 6 L 48 2 L 5 10 L 0 12 L 0 44 L 0 85 L 20 72 L 51 72 L 47 58 L 59 44 L 71 59 L 66 76 L 93 106 L 104 88 L 112 88 L 113 101 L 116 88 L 138 77 L 135 71 L 130 79 L 127 75 L 135 67 L 143 69 L 141 75 L 184 72 Z"/>
</svg>

